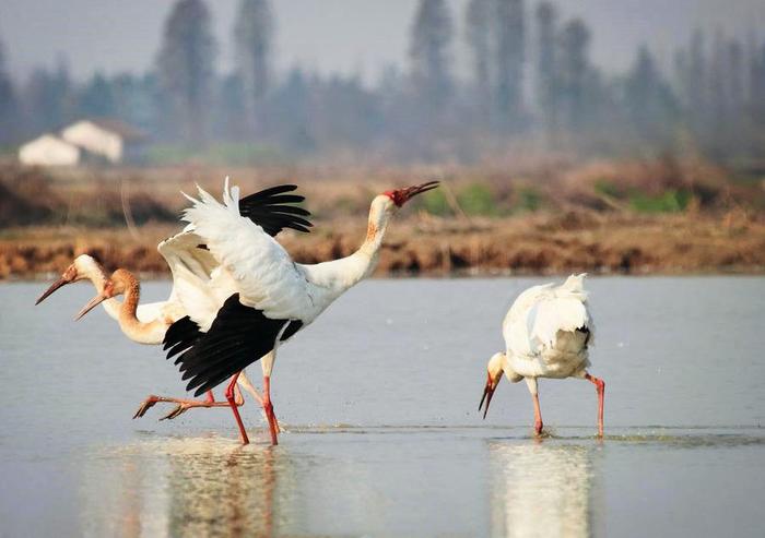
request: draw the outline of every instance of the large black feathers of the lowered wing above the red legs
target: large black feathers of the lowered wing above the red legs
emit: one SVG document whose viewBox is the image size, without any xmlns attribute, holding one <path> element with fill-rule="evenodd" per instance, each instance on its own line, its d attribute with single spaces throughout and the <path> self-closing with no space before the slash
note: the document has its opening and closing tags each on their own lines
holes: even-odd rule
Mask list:
<svg viewBox="0 0 765 538">
<path fill-rule="evenodd" d="M 183 379 L 189 380 L 186 390 L 196 388 L 195 395 L 199 396 L 270 352 L 283 328 L 282 340 L 302 326 L 299 320 L 266 318 L 261 310 L 242 304 L 239 294 L 234 294 L 217 311 L 210 331 L 191 346 L 181 348 L 188 343 L 184 339 L 180 345 L 172 347 L 167 358 L 184 351 L 175 363 L 180 366 Z"/>
</svg>

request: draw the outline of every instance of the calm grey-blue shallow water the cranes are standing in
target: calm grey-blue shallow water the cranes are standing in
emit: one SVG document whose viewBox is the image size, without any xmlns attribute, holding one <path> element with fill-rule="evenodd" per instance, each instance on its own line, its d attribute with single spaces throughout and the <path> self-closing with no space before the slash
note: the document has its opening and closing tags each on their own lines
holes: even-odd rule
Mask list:
<svg viewBox="0 0 765 538">
<path fill-rule="evenodd" d="M 0 286 L 0 536 L 753 536 L 765 498 L 765 279 L 593 278 L 589 383 L 525 384 L 476 411 L 513 298 L 540 279 L 370 280 L 281 349 L 267 444 L 181 395 L 158 347 L 93 295 Z M 161 299 L 167 283 L 144 285 Z M 249 373 L 258 379 L 260 368 Z M 220 393 L 220 391 L 219 391 Z"/>
</svg>

